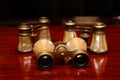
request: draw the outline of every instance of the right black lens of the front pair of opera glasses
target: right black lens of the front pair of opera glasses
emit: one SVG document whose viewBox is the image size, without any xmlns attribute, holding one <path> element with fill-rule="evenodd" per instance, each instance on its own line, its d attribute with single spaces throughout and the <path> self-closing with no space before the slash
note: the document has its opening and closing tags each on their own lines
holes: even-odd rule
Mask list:
<svg viewBox="0 0 120 80">
<path fill-rule="evenodd" d="M 77 68 L 85 67 L 88 64 L 88 62 L 89 62 L 89 57 L 84 53 L 79 53 L 75 55 L 73 58 L 73 65 Z"/>
</svg>

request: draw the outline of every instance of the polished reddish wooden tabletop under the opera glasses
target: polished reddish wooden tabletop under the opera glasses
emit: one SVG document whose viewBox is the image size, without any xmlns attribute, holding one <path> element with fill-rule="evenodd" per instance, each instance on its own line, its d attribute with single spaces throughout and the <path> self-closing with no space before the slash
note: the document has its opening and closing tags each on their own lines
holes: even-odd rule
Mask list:
<svg viewBox="0 0 120 80">
<path fill-rule="evenodd" d="M 63 27 L 50 28 L 52 41 L 60 41 Z M 87 67 L 76 69 L 72 64 L 56 60 L 53 69 L 43 71 L 36 65 L 33 52 L 17 52 L 17 27 L 0 28 L 0 80 L 120 80 L 120 25 L 107 25 L 108 53 L 95 55 L 88 51 Z"/>
</svg>

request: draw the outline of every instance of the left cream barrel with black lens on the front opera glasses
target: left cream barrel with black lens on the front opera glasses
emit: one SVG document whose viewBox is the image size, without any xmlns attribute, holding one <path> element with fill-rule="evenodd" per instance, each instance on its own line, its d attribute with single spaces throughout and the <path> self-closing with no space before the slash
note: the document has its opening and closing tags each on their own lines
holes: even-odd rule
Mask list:
<svg viewBox="0 0 120 80">
<path fill-rule="evenodd" d="M 54 44 L 47 39 L 38 40 L 33 47 L 37 56 L 37 63 L 40 69 L 51 69 L 54 64 Z"/>
</svg>

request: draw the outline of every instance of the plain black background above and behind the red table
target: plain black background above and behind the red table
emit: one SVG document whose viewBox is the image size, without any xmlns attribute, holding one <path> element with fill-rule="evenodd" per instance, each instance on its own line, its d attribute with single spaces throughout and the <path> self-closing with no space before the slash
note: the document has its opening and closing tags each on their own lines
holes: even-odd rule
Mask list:
<svg viewBox="0 0 120 80">
<path fill-rule="evenodd" d="M 0 0 L 0 19 L 118 15 L 120 0 Z"/>
</svg>

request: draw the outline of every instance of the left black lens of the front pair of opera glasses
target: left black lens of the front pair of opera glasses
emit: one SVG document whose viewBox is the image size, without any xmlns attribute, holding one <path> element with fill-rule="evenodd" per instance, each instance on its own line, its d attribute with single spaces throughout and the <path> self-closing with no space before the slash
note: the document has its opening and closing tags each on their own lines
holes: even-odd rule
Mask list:
<svg viewBox="0 0 120 80">
<path fill-rule="evenodd" d="M 42 55 L 38 58 L 38 66 L 40 69 L 52 68 L 53 62 L 53 58 L 49 55 Z"/>
</svg>

